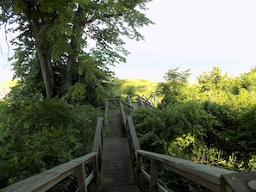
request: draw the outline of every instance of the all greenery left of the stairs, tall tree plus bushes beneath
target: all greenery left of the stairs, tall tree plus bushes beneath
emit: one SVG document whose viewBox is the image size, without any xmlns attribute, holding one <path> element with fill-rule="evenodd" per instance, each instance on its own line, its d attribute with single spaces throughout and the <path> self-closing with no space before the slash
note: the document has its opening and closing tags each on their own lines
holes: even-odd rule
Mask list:
<svg viewBox="0 0 256 192">
<path fill-rule="evenodd" d="M 124 38 L 143 39 L 149 1 L 0 0 L 18 79 L 0 102 L 0 188 L 91 152 L 108 66 L 125 61 Z"/>
</svg>

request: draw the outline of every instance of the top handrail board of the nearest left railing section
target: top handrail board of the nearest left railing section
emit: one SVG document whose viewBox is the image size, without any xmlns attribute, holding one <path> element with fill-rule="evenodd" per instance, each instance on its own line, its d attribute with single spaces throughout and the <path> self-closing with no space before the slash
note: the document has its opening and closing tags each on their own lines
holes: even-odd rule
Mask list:
<svg viewBox="0 0 256 192">
<path fill-rule="evenodd" d="M 18 183 L 9 185 L 6 188 L 0 189 L 1 192 L 28 192 L 28 191 L 46 191 L 59 183 L 62 179 L 71 175 L 78 165 L 87 164 L 91 159 L 97 155 L 97 152 L 91 152 L 80 158 L 73 159 L 72 161 L 60 164 L 50 170 L 46 170 L 33 177 L 28 177 Z"/>
</svg>

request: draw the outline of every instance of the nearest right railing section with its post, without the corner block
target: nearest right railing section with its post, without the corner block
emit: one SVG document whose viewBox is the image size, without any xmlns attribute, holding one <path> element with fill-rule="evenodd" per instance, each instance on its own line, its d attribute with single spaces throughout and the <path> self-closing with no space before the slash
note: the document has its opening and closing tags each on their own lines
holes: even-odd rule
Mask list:
<svg viewBox="0 0 256 192">
<path fill-rule="evenodd" d="M 233 170 L 225 170 L 206 164 L 197 164 L 190 160 L 173 158 L 155 152 L 137 150 L 137 153 L 138 166 L 142 163 L 143 158 L 147 159 L 150 164 L 150 173 L 147 173 L 146 170 L 138 167 L 140 173 L 146 177 L 149 182 L 149 191 L 167 191 L 158 183 L 160 166 L 166 170 L 172 170 L 173 172 L 178 173 L 178 175 L 186 177 L 213 191 L 221 191 L 222 175 L 237 173 Z"/>
</svg>

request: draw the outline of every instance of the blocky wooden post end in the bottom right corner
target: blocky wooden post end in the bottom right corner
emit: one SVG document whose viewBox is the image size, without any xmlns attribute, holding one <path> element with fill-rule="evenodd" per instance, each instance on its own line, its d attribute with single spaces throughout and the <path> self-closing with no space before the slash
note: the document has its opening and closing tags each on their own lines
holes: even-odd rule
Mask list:
<svg viewBox="0 0 256 192">
<path fill-rule="evenodd" d="M 221 177 L 222 192 L 228 191 L 255 191 L 247 185 L 252 180 L 256 179 L 256 172 L 240 172 L 225 174 Z"/>
</svg>

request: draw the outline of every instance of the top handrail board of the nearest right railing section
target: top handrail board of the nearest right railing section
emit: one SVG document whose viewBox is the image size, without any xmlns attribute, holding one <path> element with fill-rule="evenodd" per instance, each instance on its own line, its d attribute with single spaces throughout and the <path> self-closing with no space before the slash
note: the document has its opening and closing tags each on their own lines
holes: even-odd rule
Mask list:
<svg viewBox="0 0 256 192">
<path fill-rule="evenodd" d="M 173 158 L 155 152 L 147 152 L 143 150 L 137 150 L 137 152 L 143 157 L 153 158 L 159 161 L 159 164 L 165 167 L 165 169 L 172 170 L 173 172 L 176 172 L 179 175 L 199 183 L 213 191 L 221 190 L 220 179 L 223 174 L 237 173 L 233 170 L 225 170 L 206 164 L 197 164 L 190 160 Z"/>
</svg>

